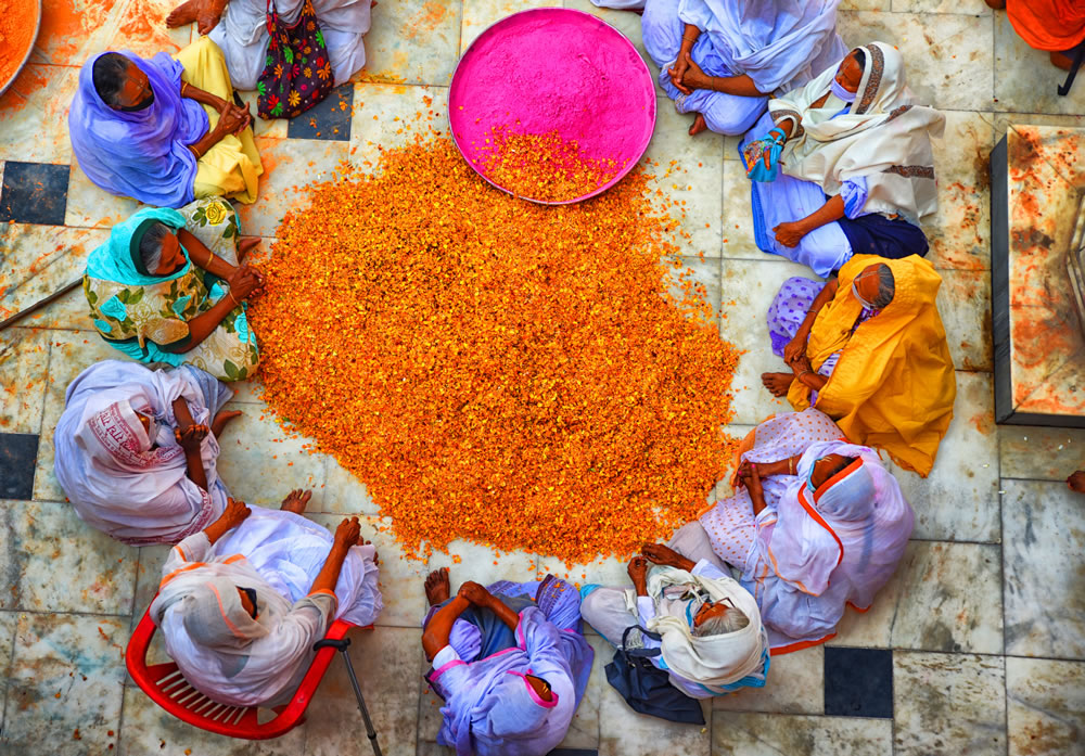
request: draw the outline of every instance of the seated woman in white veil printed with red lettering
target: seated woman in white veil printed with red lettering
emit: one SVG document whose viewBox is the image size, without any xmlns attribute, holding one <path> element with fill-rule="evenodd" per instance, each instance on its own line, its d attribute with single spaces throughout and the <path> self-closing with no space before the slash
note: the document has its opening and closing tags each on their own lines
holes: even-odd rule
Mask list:
<svg viewBox="0 0 1085 756">
<path fill-rule="evenodd" d="M 88 525 L 130 546 L 176 543 L 207 526 L 230 492 L 218 438 L 233 393 L 190 367 L 105 360 L 72 382 L 53 435 L 56 479 Z"/>
</svg>

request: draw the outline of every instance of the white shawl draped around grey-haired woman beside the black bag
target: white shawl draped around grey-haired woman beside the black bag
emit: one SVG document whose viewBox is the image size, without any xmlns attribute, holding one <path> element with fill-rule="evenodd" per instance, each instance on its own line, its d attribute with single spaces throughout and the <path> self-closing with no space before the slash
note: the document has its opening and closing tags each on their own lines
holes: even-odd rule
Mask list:
<svg viewBox="0 0 1085 756">
<path fill-rule="evenodd" d="M 653 567 L 648 576 L 648 595 L 656 606 L 671 601 L 665 594 L 668 588 L 697 590 L 713 601 L 729 600 L 750 618 L 750 624 L 741 630 L 698 637 L 686 616 L 675 616 L 661 607 L 663 611 L 649 620 L 646 629 L 663 637 L 663 661 L 672 672 L 719 695 L 733 690 L 735 683 L 746 677 L 764 681 L 762 665 L 768 650 L 768 635 L 762 626 L 757 602 L 749 591 L 726 576 L 710 578 L 677 567 Z M 636 602 L 634 591 L 626 591 L 626 604 L 634 614 L 637 614 Z"/>
</svg>

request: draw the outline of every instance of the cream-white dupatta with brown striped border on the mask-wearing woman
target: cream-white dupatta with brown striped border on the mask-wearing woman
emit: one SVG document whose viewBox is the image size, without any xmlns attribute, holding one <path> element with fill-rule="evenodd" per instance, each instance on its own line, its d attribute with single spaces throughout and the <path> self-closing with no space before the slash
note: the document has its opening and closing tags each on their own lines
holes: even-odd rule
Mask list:
<svg viewBox="0 0 1085 756">
<path fill-rule="evenodd" d="M 863 177 L 867 213 L 902 215 L 918 226 L 937 209 L 931 137 L 942 136 L 945 116 L 916 104 L 896 48 L 870 42 L 858 49 L 866 64 L 850 112 L 838 115 L 847 103 L 831 93 L 837 66 L 803 89 L 769 100 L 775 123 L 795 124 L 780 165 L 830 196 L 840 194 L 845 180 Z M 822 106 L 813 107 L 826 92 Z"/>
</svg>

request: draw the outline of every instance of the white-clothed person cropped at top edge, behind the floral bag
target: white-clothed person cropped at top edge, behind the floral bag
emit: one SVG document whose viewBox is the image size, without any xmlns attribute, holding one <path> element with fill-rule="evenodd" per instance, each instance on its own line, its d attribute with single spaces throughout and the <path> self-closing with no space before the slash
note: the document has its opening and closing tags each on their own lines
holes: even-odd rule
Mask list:
<svg viewBox="0 0 1085 756">
<path fill-rule="evenodd" d="M 288 25 L 297 22 L 304 5 L 305 0 L 275 3 L 279 21 Z M 312 0 L 336 86 L 366 65 L 363 37 L 369 31 L 371 5 L 372 0 Z M 267 11 L 266 0 L 187 0 L 166 16 L 166 26 L 195 22 L 200 34 L 222 50 L 233 86 L 256 89 L 270 39 Z"/>
</svg>

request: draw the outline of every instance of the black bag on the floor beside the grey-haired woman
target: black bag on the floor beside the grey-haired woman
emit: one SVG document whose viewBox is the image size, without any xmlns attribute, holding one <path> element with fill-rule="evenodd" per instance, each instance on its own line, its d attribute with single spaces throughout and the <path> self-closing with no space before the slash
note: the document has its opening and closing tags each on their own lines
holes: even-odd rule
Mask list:
<svg viewBox="0 0 1085 756">
<path fill-rule="evenodd" d="M 607 665 L 607 681 L 625 699 L 634 712 L 684 725 L 704 725 L 701 703 L 671 684 L 671 676 L 652 664 L 662 653 L 659 649 L 628 649 L 630 630 L 640 630 L 652 640 L 662 640 L 656 632 L 630 625 L 622 633 L 622 646 L 614 661 Z"/>
</svg>

